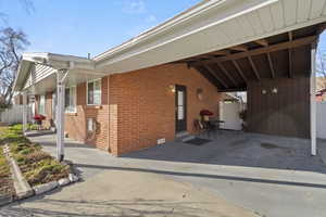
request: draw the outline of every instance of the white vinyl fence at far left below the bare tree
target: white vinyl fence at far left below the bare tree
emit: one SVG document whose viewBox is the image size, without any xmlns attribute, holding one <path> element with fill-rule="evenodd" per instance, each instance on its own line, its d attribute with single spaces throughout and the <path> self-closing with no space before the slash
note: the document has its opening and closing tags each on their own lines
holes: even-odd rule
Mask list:
<svg viewBox="0 0 326 217">
<path fill-rule="evenodd" d="M 32 122 L 32 107 L 27 105 L 27 122 Z M 0 122 L 5 124 L 22 124 L 23 123 L 23 105 L 13 105 L 0 114 Z"/>
</svg>

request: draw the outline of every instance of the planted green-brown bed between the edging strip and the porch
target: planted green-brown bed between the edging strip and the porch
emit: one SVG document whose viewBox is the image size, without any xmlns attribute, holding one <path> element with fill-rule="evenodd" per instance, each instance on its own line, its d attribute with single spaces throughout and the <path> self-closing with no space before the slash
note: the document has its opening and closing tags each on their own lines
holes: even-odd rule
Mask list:
<svg viewBox="0 0 326 217">
<path fill-rule="evenodd" d="M 37 143 L 30 142 L 22 133 L 22 125 L 2 129 L 2 144 L 8 143 L 24 177 L 34 187 L 66 178 L 70 167 L 60 164 L 54 157 L 43 152 Z"/>
</svg>

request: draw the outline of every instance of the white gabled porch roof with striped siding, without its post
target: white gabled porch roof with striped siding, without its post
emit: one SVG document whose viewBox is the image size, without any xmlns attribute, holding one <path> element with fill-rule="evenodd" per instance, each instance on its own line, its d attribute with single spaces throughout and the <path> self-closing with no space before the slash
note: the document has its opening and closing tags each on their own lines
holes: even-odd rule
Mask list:
<svg viewBox="0 0 326 217">
<path fill-rule="evenodd" d="M 14 91 L 28 91 L 43 94 L 57 88 L 58 71 L 67 69 L 66 86 L 103 77 L 105 74 L 95 69 L 95 62 L 85 58 L 53 53 L 24 53 Z"/>
</svg>

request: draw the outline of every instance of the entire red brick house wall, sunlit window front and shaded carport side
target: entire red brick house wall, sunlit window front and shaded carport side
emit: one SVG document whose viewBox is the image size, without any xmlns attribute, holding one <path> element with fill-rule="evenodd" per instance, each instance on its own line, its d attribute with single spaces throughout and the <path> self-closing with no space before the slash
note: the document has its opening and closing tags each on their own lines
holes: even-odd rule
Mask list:
<svg viewBox="0 0 326 217">
<path fill-rule="evenodd" d="M 200 110 L 218 112 L 220 93 L 204 77 L 186 65 L 161 65 L 102 78 L 102 105 L 86 105 L 86 84 L 77 86 L 77 112 L 65 114 L 70 138 L 108 150 L 114 155 L 175 138 L 175 95 L 170 86 L 187 87 L 187 130 Z M 203 90 L 203 99 L 197 89 Z M 109 105 L 110 99 L 110 105 Z M 38 98 L 36 98 L 38 100 Z M 52 94 L 47 94 L 47 116 L 52 115 Z M 87 118 L 97 120 L 97 132 L 87 133 Z M 110 144 L 110 145 L 109 145 Z"/>
</svg>

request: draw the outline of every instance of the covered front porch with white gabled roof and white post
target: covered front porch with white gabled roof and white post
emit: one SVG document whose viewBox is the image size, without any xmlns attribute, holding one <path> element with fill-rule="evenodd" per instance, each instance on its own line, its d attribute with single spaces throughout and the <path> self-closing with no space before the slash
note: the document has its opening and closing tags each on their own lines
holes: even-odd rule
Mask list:
<svg viewBox="0 0 326 217">
<path fill-rule="evenodd" d="M 89 59 L 60 55 L 52 53 L 24 53 L 15 80 L 14 91 L 23 95 L 23 131 L 26 136 L 57 133 L 57 157 L 64 158 L 64 124 L 66 103 L 66 88 L 75 87 L 80 82 L 98 79 L 103 73 L 95 69 Z M 35 131 L 27 127 L 27 103 L 35 103 L 35 98 L 51 94 L 51 103 L 43 102 L 43 106 L 51 108 L 47 122 L 52 130 Z M 41 99 L 38 99 L 39 103 Z M 76 99 L 74 99 L 76 101 Z M 35 106 L 35 104 L 34 104 Z M 43 107 L 45 108 L 45 107 Z M 38 108 L 39 110 L 39 108 Z M 37 111 L 38 114 L 42 114 Z"/>
</svg>

